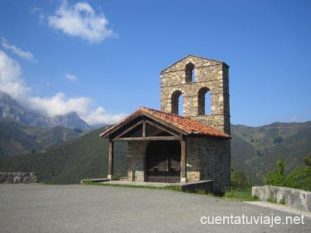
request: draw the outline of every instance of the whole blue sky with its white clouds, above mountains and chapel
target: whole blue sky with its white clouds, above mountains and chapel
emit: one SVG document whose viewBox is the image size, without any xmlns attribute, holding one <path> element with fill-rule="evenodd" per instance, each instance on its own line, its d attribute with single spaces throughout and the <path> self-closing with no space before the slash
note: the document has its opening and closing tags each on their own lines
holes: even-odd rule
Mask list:
<svg viewBox="0 0 311 233">
<path fill-rule="evenodd" d="M 311 1 L 4 0 L 0 89 L 49 115 L 112 123 L 159 109 L 160 71 L 193 54 L 229 64 L 233 124 L 303 122 L 310 12 Z"/>
</svg>

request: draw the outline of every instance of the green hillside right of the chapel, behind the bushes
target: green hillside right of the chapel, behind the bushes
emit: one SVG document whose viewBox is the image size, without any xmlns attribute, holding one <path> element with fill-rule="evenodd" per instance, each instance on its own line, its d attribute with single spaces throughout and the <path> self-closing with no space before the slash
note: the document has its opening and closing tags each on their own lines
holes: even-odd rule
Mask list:
<svg viewBox="0 0 311 233">
<path fill-rule="evenodd" d="M 256 182 L 275 167 L 278 158 L 288 161 L 291 171 L 311 154 L 311 122 L 236 125 L 232 136 L 232 167 L 245 170 Z"/>
</svg>

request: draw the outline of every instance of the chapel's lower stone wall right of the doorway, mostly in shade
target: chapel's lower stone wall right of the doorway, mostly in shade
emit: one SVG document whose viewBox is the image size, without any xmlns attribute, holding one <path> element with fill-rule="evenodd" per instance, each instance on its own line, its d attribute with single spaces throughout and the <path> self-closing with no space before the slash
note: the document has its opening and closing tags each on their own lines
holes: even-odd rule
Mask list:
<svg viewBox="0 0 311 233">
<path fill-rule="evenodd" d="M 187 138 L 187 174 L 198 172 L 200 180 L 213 180 L 216 191 L 229 186 L 230 160 L 229 140 Z"/>
</svg>

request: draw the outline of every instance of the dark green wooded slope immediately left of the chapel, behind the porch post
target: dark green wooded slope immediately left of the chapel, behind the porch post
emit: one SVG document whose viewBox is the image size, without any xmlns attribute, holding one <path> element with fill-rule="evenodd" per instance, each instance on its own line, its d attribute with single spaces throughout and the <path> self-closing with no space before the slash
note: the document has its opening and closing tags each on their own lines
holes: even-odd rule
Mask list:
<svg viewBox="0 0 311 233">
<path fill-rule="evenodd" d="M 78 183 L 82 178 L 106 176 L 108 142 L 99 137 L 104 129 L 49 147 L 44 152 L 0 158 L 0 171 L 35 171 L 45 183 Z M 115 172 L 126 174 L 126 144 L 115 145 Z M 123 169 L 122 169 L 123 168 Z"/>
</svg>

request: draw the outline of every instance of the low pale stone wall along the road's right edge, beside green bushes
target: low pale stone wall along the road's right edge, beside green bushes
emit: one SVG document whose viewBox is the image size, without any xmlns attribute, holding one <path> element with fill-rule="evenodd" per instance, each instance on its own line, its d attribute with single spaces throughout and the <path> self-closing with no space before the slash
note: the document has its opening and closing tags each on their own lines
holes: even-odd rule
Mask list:
<svg viewBox="0 0 311 233">
<path fill-rule="evenodd" d="M 311 192 L 301 189 L 265 185 L 253 187 L 252 196 L 258 196 L 262 201 L 276 201 L 296 209 L 311 212 Z"/>
</svg>

